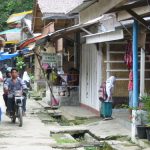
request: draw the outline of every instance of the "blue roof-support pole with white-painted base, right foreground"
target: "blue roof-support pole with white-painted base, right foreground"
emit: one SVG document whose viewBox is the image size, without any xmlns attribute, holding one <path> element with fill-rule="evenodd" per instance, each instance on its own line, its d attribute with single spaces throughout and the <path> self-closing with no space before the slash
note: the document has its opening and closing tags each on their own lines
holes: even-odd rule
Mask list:
<svg viewBox="0 0 150 150">
<path fill-rule="evenodd" d="M 132 140 L 136 135 L 136 110 L 138 107 L 138 21 L 133 23 L 133 110 L 132 110 Z"/>
</svg>

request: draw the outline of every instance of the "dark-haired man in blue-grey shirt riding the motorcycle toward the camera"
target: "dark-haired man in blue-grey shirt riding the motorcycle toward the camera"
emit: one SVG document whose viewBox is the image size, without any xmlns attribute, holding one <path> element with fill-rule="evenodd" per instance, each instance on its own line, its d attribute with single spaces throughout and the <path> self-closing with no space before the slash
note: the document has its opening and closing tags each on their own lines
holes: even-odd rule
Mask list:
<svg viewBox="0 0 150 150">
<path fill-rule="evenodd" d="M 23 92 L 27 90 L 27 86 L 24 81 L 18 77 L 18 70 L 13 68 L 11 69 L 11 78 L 7 79 L 4 83 L 4 91 L 8 94 L 8 101 L 7 101 L 7 109 L 10 113 L 10 116 L 13 115 L 14 112 L 14 94 L 15 91 L 22 90 Z M 23 99 L 23 111 L 26 111 L 26 94 L 24 95 L 25 98 Z"/>
</svg>

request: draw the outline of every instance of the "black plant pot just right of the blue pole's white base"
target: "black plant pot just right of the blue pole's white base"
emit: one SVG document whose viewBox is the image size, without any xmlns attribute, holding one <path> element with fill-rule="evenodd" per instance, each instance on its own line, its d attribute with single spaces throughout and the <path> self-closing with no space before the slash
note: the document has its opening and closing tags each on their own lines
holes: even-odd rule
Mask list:
<svg viewBox="0 0 150 150">
<path fill-rule="evenodd" d="M 146 126 L 137 125 L 137 136 L 139 139 L 146 139 Z"/>
</svg>

